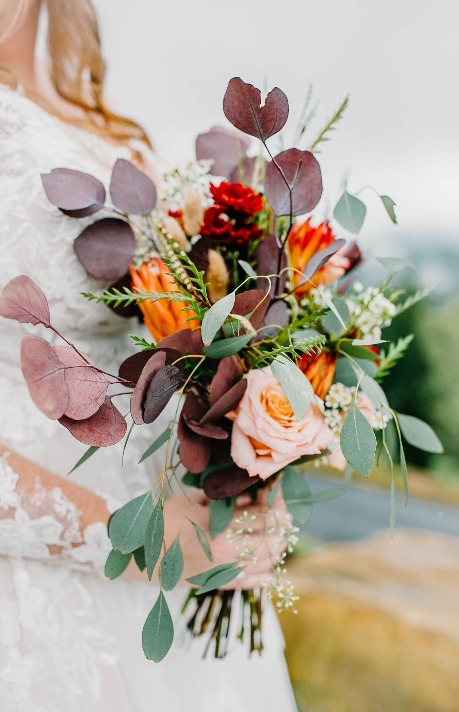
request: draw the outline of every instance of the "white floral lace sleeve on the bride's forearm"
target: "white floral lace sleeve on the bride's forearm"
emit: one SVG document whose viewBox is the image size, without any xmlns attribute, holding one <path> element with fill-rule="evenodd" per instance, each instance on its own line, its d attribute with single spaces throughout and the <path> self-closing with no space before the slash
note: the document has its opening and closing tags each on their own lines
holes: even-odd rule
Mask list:
<svg viewBox="0 0 459 712">
<path fill-rule="evenodd" d="M 37 477 L 32 492 L 21 492 L 18 482 L 19 475 L 4 454 L 0 458 L 0 554 L 101 570 L 112 548 L 105 523 L 95 522 L 82 532 L 83 512 L 60 487 L 47 490 Z"/>
</svg>

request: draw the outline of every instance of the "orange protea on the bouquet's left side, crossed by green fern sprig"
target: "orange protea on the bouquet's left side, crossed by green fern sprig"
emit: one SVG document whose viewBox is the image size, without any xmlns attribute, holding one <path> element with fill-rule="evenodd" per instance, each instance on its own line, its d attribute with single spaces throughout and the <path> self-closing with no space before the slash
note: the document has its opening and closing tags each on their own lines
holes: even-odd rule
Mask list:
<svg viewBox="0 0 459 712">
<path fill-rule="evenodd" d="M 131 265 L 132 288 L 139 292 L 173 292 L 176 290 L 176 283 L 168 272 L 169 268 L 159 258 L 152 258 L 149 263 L 143 263 L 139 271 Z M 199 326 L 197 319 L 186 321 L 194 315 L 194 311 L 181 311 L 185 306 L 185 302 L 168 302 L 165 299 L 139 302 L 144 323 L 156 342 L 181 329 L 195 329 Z"/>
</svg>

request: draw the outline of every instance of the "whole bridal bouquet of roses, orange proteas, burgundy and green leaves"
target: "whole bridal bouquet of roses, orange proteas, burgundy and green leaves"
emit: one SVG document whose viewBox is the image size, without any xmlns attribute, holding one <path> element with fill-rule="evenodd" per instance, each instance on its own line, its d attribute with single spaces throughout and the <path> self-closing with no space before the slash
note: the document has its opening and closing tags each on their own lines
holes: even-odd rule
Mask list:
<svg viewBox="0 0 459 712">
<path fill-rule="evenodd" d="M 296 597 L 285 579 L 285 553 L 270 550 L 269 537 L 276 535 L 281 548 L 291 551 L 297 540 L 292 520 L 306 523 L 314 503 L 342 493 L 312 494 L 302 476 L 304 464 L 350 468 L 368 477 L 379 442 L 377 457 L 384 449 L 392 466 L 386 442 L 392 421 L 407 498 L 403 439 L 442 451 L 430 426 L 396 413 L 381 387 L 411 340 L 387 343 L 381 329 L 424 295 L 403 298 L 403 290 L 391 288 L 394 275 L 412 264 L 375 257 L 387 278 L 364 288 L 349 276 L 362 262 L 357 244 L 337 239 L 327 222 L 317 225 L 304 217 L 322 195 L 317 145 L 327 140 L 346 103 L 310 150 L 290 148 L 273 155 L 267 142 L 287 121 L 287 97 L 275 88 L 261 105 L 258 89 L 233 78 L 223 111 L 237 131 L 213 127 L 200 135 L 198 160 L 165 174 L 161 195 L 123 159 L 113 169 L 108 204 L 104 187 L 89 174 L 56 168 L 42 177 L 48 199 L 66 215 L 110 211 L 75 241 L 88 273 L 113 282 L 100 294 L 85 296 L 124 315 L 140 308 L 153 338 L 133 336 L 139 350 L 115 376 L 100 370 L 64 336 L 66 345 L 51 347 L 28 335 L 21 352 L 37 407 L 90 446 L 78 464 L 125 436 L 126 444 L 135 426 L 153 424 L 152 444 L 141 461 L 167 444 L 164 468 L 155 473 L 152 487 L 112 514 L 108 524 L 112 552 L 107 577 L 119 576 L 132 555 L 149 579 L 157 567 L 159 597 L 142 634 L 148 659 L 161 660 L 172 644 L 164 591 L 176 586 L 184 566 L 179 537 L 165 550 L 169 491 L 185 485 L 204 490 L 209 498 L 209 531 L 191 524 L 196 546 L 210 562 L 209 537 L 226 532 L 228 545 L 234 546 L 233 562 L 209 565 L 188 579 L 191 634 L 209 632 L 216 656 L 222 656 L 233 592 L 221 587 L 267 551 L 263 555 L 270 557 L 273 575 L 265 592 L 277 598 L 280 610 L 292 608 Z M 247 154 L 250 136 L 260 142 L 257 157 Z M 395 223 L 394 201 L 383 195 L 381 203 Z M 345 191 L 334 218 L 345 231 L 358 234 L 365 212 L 364 203 Z M 55 330 L 45 295 L 26 276 L 6 286 L 0 313 Z M 116 393 L 107 395 L 113 384 L 122 385 L 123 392 L 132 390 L 130 416 L 115 407 Z M 157 417 L 177 393 L 169 426 L 155 431 Z M 253 545 L 248 537 L 253 522 L 246 515 L 234 521 L 233 509 L 236 496 L 248 492 L 255 500 L 262 488 L 267 504 L 260 515 L 260 542 Z M 290 515 L 276 509 L 280 488 Z M 391 528 L 395 514 L 392 473 Z M 189 518 L 187 510 L 183 516 Z M 251 651 L 262 647 L 262 600 L 260 590 L 242 592 L 241 638 L 246 624 Z"/>
</svg>

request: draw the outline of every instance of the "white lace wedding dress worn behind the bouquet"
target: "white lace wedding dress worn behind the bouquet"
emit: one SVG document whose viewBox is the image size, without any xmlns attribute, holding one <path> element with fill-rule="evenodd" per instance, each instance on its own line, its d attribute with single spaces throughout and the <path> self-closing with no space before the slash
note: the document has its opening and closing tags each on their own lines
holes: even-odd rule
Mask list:
<svg viewBox="0 0 459 712">
<path fill-rule="evenodd" d="M 78 169 L 107 187 L 117 157 L 130 159 L 130 149 L 66 125 L 0 87 L 0 289 L 19 274 L 30 276 L 48 298 L 53 325 L 108 372 L 134 352 L 128 334 L 138 333 L 139 325 L 80 295 L 105 286 L 85 273 L 73 251 L 94 217 L 77 221 L 60 213 L 46 199 L 40 173 Z M 0 332 L 0 441 L 65 478 L 86 446 L 38 411 L 20 367 L 23 335 L 58 339 L 1 318 Z M 164 424 L 156 425 L 162 432 Z M 137 465 L 155 436 L 154 427 L 142 430 L 134 429 L 123 467 L 120 444 L 98 450 L 69 479 L 104 496 L 109 510 L 146 491 L 161 464 L 151 457 Z M 147 661 L 142 626 L 157 588 L 105 579 L 111 548 L 105 524 L 81 531 L 82 513 L 60 488 L 46 491 L 38 478 L 33 493 L 25 494 L 17 481 L 6 455 L 0 459 L 2 712 L 296 709 L 271 609 L 262 657 L 249 658 L 247 647 L 235 641 L 224 660 L 203 661 L 180 618 L 186 589 L 176 589 L 167 594 L 176 629 L 172 650 L 159 664 Z M 61 553 L 51 554 L 53 545 Z"/>
</svg>

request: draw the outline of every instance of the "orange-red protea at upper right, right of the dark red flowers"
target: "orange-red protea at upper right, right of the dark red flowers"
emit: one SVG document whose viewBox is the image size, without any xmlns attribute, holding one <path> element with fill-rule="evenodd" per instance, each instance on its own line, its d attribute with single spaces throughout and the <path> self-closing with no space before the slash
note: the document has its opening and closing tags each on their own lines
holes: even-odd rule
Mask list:
<svg viewBox="0 0 459 712">
<path fill-rule="evenodd" d="M 315 255 L 316 252 L 319 252 L 332 244 L 335 239 L 336 238 L 327 221 L 321 223 L 318 227 L 311 225 L 310 218 L 308 218 L 304 223 L 296 223 L 292 227 L 290 235 L 288 236 L 290 266 L 302 272 L 307 262 L 310 261 L 310 258 Z M 351 261 L 348 257 L 340 254 L 341 252 L 342 250 L 339 250 L 337 253 L 334 253 L 334 255 L 329 258 L 329 261 L 312 277 L 312 281 L 317 286 L 326 287 L 347 272 L 351 266 Z M 300 288 L 296 289 L 300 283 L 300 279 L 300 274 L 298 272 L 294 272 L 293 286 L 295 287 L 295 296 L 297 298 L 306 296 L 312 289 L 310 282 L 307 282 Z"/>
</svg>

